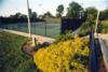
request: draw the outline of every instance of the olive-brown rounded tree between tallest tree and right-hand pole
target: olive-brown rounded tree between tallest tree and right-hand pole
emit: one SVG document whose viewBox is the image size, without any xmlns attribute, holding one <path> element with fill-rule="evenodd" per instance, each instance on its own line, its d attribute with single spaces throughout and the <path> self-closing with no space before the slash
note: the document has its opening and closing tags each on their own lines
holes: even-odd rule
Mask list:
<svg viewBox="0 0 108 72">
<path fill-rule="evenodd" d="M 86 13 L 87 13 L 87 18 L 89 19 L 96 19 L 97 16 L 97 9 L 95 8 L 87 8 L 86 9 Z"/>
</svg>

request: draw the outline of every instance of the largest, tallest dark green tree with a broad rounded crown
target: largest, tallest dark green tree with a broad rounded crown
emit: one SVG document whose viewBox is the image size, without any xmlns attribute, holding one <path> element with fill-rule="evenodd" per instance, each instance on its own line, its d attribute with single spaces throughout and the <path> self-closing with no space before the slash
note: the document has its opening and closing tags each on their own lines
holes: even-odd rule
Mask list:
<svg viewBox="0 0 108 72">
<path fill-rule="evenodd" d="M 69 6 L 67 8 L 67 17 L 80 17 L 80 11 L 83 11 L 82 6 L 72 1 L 71 3 L 69 3 Z"/>
</svg>

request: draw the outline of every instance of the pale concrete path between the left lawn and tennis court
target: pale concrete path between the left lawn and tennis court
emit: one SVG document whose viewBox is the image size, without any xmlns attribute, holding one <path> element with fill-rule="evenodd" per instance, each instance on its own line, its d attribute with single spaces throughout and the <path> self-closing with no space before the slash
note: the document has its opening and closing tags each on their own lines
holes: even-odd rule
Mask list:
<svg viewBox="0 0 108 72">
<path fill-rule="evenodd" d="M 14 31 L 14 30 L 1 29 L 1 28 L 0 28 L 0 31 L 6 31 L 10 33 L 14 33 L 14 34 L 23 35 L 23 37 L 29 37 L 28 33 L 21 32 L 21 31 Z M 37 35 L 37 34 L 31 34 L 31 37 L 33 39 L 36 38 L 39 43 L 44 43 L 44 42 L 53 43 L 55 41 L 55 39 L 51 39 L 51 38 L 46 38 L 46 37 L 42 37 L 42 35 Z"/>
</svg>

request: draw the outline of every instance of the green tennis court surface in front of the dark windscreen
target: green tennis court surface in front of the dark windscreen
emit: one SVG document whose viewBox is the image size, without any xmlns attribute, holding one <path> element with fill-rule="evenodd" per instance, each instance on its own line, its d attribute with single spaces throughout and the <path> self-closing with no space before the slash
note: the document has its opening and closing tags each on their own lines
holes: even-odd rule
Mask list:
<svg viewBox="0 0 108 72">
<path fill-rule="evenodd" d="M 8 24 L 1 25 L 1 28 L 9 30 L 16 30 L 22 32 L 28 32 L 28 24 Z M 60 24 L 50 23 L 31 23 L 31 33 L 56 38 L 60 32 Z"/>
</svg>

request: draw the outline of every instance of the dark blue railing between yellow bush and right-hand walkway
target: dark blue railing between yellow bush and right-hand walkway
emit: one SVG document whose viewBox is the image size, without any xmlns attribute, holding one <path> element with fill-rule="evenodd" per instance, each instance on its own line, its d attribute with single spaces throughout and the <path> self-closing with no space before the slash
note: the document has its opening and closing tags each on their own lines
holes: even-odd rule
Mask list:
<svg viewBox="0 0 108 72">
<path fill-rule="evenodd" d="M 90 71 L 97 72 L 98 69 L 97 53 L 96 53 L 95 38 L 94 38 L 94 32 L 92 27 L 90 32 L 90 49 L 91 49 Z"/>
</svg>

